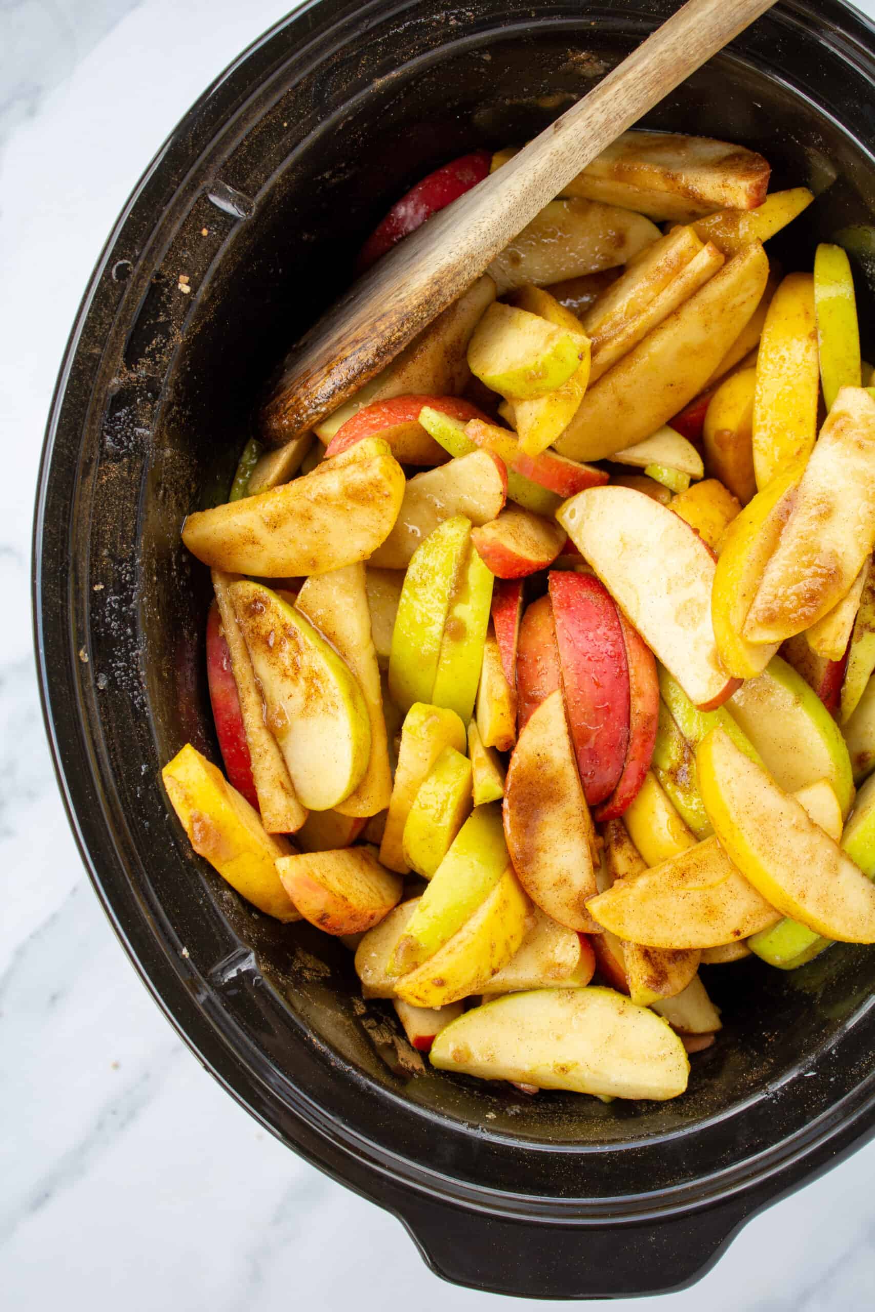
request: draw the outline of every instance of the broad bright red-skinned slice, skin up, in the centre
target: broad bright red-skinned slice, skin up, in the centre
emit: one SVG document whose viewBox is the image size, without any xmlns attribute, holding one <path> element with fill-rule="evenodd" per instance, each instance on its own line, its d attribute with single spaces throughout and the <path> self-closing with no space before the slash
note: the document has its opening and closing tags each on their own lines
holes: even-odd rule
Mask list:
<svg viewBox="0 0 875 1312">
<path fill-rule="evenodd" d="M 559 665 L 586 804 L 611 795 L 628 748 L 628 669 L 617 606 L 589 573 L 548 579 Z"/>
</svg>

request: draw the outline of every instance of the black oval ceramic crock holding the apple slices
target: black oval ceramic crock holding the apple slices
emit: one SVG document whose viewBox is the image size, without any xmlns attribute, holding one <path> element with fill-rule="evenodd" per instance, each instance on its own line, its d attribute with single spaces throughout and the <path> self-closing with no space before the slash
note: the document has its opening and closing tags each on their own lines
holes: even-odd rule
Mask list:
<svg viewBox="0 0 875 1312">
<path fill-rule="evenodd" d="M 37 502 L 51 745 L 144 983 L 264 1126 L 397 1215 L 438 1274 L 504 1294 L 689 1284 L 745 1219 L 865 1140 L 875 953 L 834 947 L 791 975 L 756 959 L 711 968 L 724 1030 L 669 1103 L 411 1076 L 345 949 L 253 913 L 169 812 L 161 764 L 186 740 L 215 756 L 207 579 L 178 530 L 227 492 L 264 380 L 349 281 L 387 205 L 454 155 L 540 129 L 673 8 L 320 0 L 274 28 L 121 215 L 70 340 Z M 809 184 L 819 199 L 778 253 L 809 268 L 813 243 L 845 230 L 863 323 L 874 73 L 875 30 L 855 10 L 784 0 L 649 118 L 762 150 L 777 186 Z"/>
</svg>

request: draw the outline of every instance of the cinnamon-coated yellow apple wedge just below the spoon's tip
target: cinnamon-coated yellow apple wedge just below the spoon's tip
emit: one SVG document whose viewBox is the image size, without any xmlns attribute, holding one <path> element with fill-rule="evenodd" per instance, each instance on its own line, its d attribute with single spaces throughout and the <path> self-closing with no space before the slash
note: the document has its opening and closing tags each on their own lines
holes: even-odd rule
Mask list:
<svg viewBox="0 0 875 1312">
<path fill-rule="evenodd" d="M 404 471 L 380 438 L 272 492 L 197 510 L 182 526 L 192 555 L 216 569 L 289 579 L 365 560 L 388 537 Z"/>
</svg>

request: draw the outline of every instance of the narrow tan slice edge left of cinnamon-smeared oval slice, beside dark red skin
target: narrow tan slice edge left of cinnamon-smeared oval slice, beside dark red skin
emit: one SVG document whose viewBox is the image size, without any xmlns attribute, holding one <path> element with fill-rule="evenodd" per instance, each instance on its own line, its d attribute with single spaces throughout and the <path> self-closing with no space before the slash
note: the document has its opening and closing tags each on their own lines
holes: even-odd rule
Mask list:
<svg viewBox="0 0 875 1312">
<path fill-rule="evenodd" d="M 268 833 L 295 833 L 307 819 L 307 812 L 298 800 L 279 744 L 265 724 L 261 689 L 231 600 L 230 589 L 236 576 L 214 569 L 211 577 L 222 617 L 222 630 L 231 655 L 231 672 L 236 685 L 237 707 L 252 765 L 261 823 Z"/>
</svg>

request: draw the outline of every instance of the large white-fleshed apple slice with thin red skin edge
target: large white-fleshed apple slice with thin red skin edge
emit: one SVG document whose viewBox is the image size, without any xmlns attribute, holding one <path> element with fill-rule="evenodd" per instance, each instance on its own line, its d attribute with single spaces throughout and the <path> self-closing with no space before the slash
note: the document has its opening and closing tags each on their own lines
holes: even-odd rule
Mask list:
<svg viewBox="0 0 875 1312">
<path fill-rule="evenodd" d="M 737 681 L 724 673 L 711 625 L 715 562 L 668 506 L 630 488 L 590 488 L 558 520 L 647 646 L 690 701 L 712 710 Z"/>
</svg>

